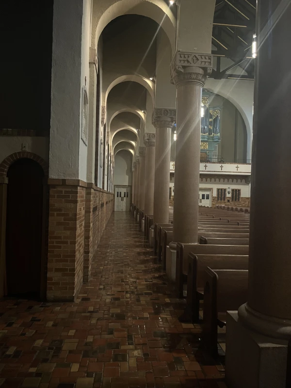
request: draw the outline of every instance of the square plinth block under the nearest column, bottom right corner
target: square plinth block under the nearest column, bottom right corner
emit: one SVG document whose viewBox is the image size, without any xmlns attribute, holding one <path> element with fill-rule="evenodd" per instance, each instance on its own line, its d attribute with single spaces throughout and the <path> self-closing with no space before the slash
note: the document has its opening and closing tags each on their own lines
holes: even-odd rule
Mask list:
<svg viewBox="0 0 291 388">
<path fill-rule="evenodd" d="M 244 327 L 237 311 L 226 317 L 228 388 L 282 388 L 286 384 L 287 345 L 273 343 Z"/>
</svg>

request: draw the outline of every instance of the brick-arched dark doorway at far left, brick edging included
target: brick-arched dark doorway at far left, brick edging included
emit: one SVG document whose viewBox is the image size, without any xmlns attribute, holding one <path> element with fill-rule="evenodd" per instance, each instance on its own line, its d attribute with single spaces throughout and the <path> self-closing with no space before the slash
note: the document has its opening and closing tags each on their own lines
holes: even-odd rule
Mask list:
<svg viewBox="0 0 291 388">
<path fill-rule="evenodd" d="M 46 296 L 47 172 L 46 163 L 28 152 L 13 154 L 0 164 L 6 183 L 1 201 L 6 215 L 1 239 L 4 295 Z"/>
</svg>

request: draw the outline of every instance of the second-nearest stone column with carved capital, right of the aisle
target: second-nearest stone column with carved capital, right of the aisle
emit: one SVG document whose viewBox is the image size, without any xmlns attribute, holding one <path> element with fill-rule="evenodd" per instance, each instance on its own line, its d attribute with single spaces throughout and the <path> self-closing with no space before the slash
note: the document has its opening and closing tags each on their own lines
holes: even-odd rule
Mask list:
<svg viewBox="0 0 291 388">
<path fill-rule="evenodd" d="M 177 87 L 174 242 L 197 242 L 202 88 L 211 54 L 177 51 L 171 81 Z"/>
</svg>

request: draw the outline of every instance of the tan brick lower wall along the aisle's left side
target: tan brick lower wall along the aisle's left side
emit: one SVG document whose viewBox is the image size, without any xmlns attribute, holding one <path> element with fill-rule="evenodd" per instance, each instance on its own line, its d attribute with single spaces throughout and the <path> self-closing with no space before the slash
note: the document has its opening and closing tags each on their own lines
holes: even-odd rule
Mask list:
<svg viewBox="0 0 291 388">
<path fill-rule="evenodd" d="M 70 300 L 88 281 L 113 194 L 79 180 L 49 179 L 48 300 Z"/>
</svg>

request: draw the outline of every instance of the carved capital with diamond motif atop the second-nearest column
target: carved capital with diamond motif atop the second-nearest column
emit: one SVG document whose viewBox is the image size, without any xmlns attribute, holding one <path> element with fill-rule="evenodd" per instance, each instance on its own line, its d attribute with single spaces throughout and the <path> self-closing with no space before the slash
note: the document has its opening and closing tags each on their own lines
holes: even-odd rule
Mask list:
<svg viewBox="0 0 291 388">
<path fill-rule="evenodd" d="M 203 87 L 212 67 L 211 54 L 176 51 L 170 67 L 171 82 L 177 86 L 192 83 Z"/>
</svg>

